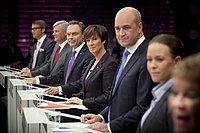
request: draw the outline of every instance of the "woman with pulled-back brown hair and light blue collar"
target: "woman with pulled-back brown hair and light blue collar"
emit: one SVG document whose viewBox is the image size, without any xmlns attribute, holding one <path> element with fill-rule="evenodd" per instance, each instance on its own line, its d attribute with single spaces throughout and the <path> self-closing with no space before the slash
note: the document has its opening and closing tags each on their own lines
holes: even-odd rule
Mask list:
<svg viewBox="0 0 200 133">
<path fill-rule="evenodd" d="M 172 70 L 181 61 L 183 44 L 173 35 L 154 37 L 147 50 L 147 69 L 151 79 L 159 83 L 152 89 L 153 99 L 138 125 L 137 133 L 169 133 L 171 120 L 167 108 L 167 96 L 172 86 Z"/>
</svg>

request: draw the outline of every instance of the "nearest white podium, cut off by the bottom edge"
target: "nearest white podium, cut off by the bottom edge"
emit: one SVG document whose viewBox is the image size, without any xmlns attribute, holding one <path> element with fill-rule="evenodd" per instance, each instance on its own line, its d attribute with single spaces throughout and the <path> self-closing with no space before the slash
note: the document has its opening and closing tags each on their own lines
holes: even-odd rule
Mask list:
<svg viewBox="0 0 200 133">
<path fill-rule="evenodd" d="M 23 108 L 23 133 L 100 133 L 86 128 L 81 122 L 59 123 L 66 114 L 55 111 Z"/>
</svg>

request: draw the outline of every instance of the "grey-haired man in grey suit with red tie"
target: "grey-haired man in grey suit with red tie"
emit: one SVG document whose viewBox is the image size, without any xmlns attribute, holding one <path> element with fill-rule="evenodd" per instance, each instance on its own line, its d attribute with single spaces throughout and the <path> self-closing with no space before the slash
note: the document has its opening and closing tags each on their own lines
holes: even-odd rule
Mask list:
<svg viewBox="0 0 200 133">
<path fill-rule="evenodd" d="M 67 26 L 68 22 L 64 20 L 57 21 L 53 25 L 53 36 L 54 36 L 54 41 L 57 42 L 57 45 L 55 45 L 54 47 L 50 60 L 44 66 L 36 68 L 31 72 L 23 74 L 25 76 L 30 76 L 30 77 L 37 76 L 35 78 L 32 78 L 33 83 L 37 83 L 39 77 L 56 75 L 58 71 L 63 69 L 65 64 L 65 56 L 67 52 L 71 51 L 71 47 L 67 43 L 67 35 L 66 35 Z M 62 82 L 59 82 L 54 85 L 61 85 L 61 83 Z"/>
</svg>

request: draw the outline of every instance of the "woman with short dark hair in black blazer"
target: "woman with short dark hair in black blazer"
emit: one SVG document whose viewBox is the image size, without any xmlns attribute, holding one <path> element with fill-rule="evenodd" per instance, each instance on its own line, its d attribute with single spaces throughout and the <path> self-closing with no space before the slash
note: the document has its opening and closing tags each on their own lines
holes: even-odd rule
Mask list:
<svg viewBox="0 0 200 133">
<path fill-rule="evenodd" d="M 117 62 L 106 51 L 108 31 L 102 25 L 90 25 L 84 31 L 89 51 L 94 55 L 83 76 L 82 90 L 68 100 L 88 108 L 84 113 L 100 113 L 108 104 Z"/>
</svg>

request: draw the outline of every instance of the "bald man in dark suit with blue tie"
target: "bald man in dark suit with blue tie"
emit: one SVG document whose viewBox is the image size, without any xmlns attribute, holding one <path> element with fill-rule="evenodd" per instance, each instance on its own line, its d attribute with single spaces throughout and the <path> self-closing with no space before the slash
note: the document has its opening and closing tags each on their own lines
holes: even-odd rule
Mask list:
<svg viewBox="0 0 200 133">
<path fill-rule="evenodd" d="M 146 68 L 148 41 L 141 21 L 140 12 L 132 7 L 122 8 L 116 14 L 115 33 L 119 44 L 125 47 L 124 58 L 114 79 L 108 106 L 99 115 L 81 116 L 81 122 L 91 124 L 88 128 L 133 133 L 150 104 L 155 84 Z"/>
</svg>

